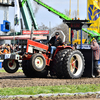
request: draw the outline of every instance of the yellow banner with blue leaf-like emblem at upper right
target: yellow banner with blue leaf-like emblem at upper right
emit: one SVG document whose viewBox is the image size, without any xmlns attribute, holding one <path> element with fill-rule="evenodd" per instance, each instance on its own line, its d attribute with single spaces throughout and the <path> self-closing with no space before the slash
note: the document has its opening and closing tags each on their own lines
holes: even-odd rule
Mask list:
<svg viewBox="0 0 100 100">
<path fill-rule="evenodd" d="M 90 20 L 91 26 L 88 30 L 100 33 L 100 0 L 87 0 L 87 19 Z"/>
</svg>

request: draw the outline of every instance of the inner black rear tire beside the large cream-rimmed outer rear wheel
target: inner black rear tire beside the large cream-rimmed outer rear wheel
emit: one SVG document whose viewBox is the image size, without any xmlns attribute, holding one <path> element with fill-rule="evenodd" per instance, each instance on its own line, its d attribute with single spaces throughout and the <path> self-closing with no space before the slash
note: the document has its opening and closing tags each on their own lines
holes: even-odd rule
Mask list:
<svg viewBox="0 0 100 100">
<path fill-rule="evenodd" d="M 72 51 L 72 49 L 64 49 L 64 50 L 61 50 L 59 51 L 56 55 L 55 55 L 55 58 L 54 58 L 54 61 L 53 61 L 53 68 L 54 68 L 54 71 L 56 72 L 56 75 L 58 78 L 62 78 L 64 76 L 63 74 L 63 59 L 65 57 L 65 55 Z"/>
</svg>

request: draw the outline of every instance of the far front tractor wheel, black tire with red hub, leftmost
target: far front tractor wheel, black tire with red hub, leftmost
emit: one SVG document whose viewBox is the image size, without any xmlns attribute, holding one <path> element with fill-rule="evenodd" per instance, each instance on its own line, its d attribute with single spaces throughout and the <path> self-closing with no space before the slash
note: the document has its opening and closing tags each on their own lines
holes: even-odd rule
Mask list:
<svg viewBox="0 0 100 100">
<path fill-rule="evenodd" d="M 3 68 L 8 73 L 15 73 L 19 68 L 19 63 L 17 60 L 6 59 L 3 62 Z"/>
</svg>

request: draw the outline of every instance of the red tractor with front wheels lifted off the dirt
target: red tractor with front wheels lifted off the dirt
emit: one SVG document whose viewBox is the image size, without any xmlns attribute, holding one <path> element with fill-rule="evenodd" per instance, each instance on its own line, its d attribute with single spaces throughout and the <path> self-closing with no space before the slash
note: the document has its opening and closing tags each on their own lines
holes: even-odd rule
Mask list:
<svg viewBox="0 0 100 100">
<path fill-rule="evenodd" d="M 27 77 L 46 77 L 48 71 L 58 78 L 80 78 L 83 75 L 85 61 L 79 50 L 71 46 L 58 46 L 50 59 L 48 46 L 32 40 L 20 40 L 18 54 L 4 54 L 3 67 L 8 73 L 15 73 L 22 60 L 22 70 Z M 52 74 L 51 74 L 52 75 Z"/>
</svg>

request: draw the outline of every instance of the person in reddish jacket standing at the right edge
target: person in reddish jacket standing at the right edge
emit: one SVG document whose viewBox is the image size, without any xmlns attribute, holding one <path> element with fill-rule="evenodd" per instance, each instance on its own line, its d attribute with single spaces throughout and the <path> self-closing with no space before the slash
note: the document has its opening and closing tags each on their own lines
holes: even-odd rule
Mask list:
<svg viewBox="0 0 100 100">
<path fill-rule="evenodd" d="M 94 54 L 94 70 L 97 73 L 97 77 L 100 77 L 100 68 L 98 67 L 98 60 L 99 60 L 99 45 L 96 39 L 93 39 L 91 42 L 91 48 Z"/>
</svg>

